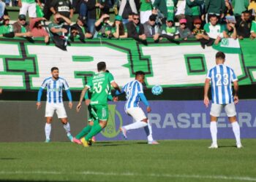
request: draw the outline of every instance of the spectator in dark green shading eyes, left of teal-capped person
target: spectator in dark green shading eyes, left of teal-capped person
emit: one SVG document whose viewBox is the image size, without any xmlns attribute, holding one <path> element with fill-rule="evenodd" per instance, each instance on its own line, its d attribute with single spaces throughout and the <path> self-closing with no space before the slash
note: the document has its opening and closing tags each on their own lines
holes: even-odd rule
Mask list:
<svg viewBox="0 0 256 182">
<path fill-rule="evenodd" d="M 109 19 L 109 15 L 104 14 L 99 18 L 99 20 L 97 20 L 97 22 L 95 22 L 96 32 L 94 33 L 94 37 L 102 38 L 111 36 L 111 25 Z"/>
</svg>

